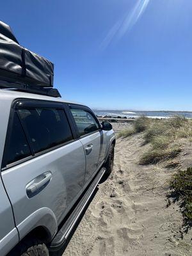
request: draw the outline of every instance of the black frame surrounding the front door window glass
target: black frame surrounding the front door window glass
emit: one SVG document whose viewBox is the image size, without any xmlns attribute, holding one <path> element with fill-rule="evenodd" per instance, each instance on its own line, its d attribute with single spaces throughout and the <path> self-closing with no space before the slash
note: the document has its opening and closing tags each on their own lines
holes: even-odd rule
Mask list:
<svg viewBox="0 0 192 256">
<path fill-rule="evenodd" d="M 99 129 L 97 129 L 97 130 L 95 130 L 93 132 L 90 132 L 88 134 L 83 134 L 83 135 L 80 136 L 78 128 L 77 128 L 77 124 L 76 124 L 76 121 L 75 121 L 75 118 L 72 115 L 72 112 L 70 111 L 70 116 L 71 116 L 71 118 L 73 120 L 74 127 L 76 127 L 76 133 L 77 133 L 78 138 L 84 138 L 86 136 L 92 135 L 92 134 L 94 134 L 96 132 L 100 132 L 102 130 L 100 122 L 97 119 L 97 116 L 95 115 L 95 113 L 93 113 L 92 109 L 90 109 L 90 108 L 88 108 L 88 107 L 86 107 L 84 105 L 78 105 L 78 104 L 68 104 L 68 108 L 69 108 L 69 111 L 70 111 L 70 109 L 81 109 L 81 110 L 84 110 L 84 111 L 90 113 L 93 116 L 93 118 L 95 119 L 95 121 L 97 122 L 97 124 L 99 125 Z"/>
</svg>

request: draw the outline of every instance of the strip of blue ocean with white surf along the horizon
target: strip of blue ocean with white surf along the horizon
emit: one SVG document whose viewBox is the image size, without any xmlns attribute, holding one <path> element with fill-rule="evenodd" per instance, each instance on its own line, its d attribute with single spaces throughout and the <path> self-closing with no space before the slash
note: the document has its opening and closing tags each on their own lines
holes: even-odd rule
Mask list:
<svg viewBox="0 0 192 256">
<path fill-rule="evenodd" d="M 150 118 L 169 118 L 172 116 L 184 116 L 186 118 L 192 118 L 192 111 L 129 111 L 129 110 L 100 110 L 93 109 L 93 112 L 98 116 L 126 116 L 127 118 L 138 118 L 145 115 Z"/>
</svg>

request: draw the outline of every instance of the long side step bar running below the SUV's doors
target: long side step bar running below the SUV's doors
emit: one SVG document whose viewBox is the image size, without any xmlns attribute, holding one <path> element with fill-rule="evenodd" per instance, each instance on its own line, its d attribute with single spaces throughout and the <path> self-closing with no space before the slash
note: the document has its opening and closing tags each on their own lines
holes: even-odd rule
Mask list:
<svg viewBox="0 0 192 256">
<path fill-rule="evenodd" d="M 77 220 L 79 219 L 79 216 L 81 216 L 81 213 L 83 212 L 84 207 L 88 204 L 90 197 L 92 196 L 93 192 L 95 191 L 95 188 L 97 187 L 97 184 L 102 179 L 102 176 L 106 172 L 105 168 L 101 168 L 97 176 L 94 178 L 92 184 L 88 187 L 86 192 L 84 193 L 81 200 L 78 202 L 70 216 L 68 217 L 67 221 L 65 221 L 63 227 L 60 228 L 60 231 L 54 239 L 52 240 L 49 250 L 54 252 L 56 250 L 60 250 L 60 248 L 63 246 L 65 241 L 67 240 L 67 237 L 69 236 L 70 232 L 72 231 L 72 228 L 76 224 Z"/>
</svg>

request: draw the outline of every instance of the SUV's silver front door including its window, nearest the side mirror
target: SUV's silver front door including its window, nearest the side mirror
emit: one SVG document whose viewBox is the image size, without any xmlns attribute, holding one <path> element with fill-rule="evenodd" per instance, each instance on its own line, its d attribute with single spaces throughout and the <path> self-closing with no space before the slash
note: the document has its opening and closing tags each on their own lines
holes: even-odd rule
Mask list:
<svg viewBox="0 0 192 256">
<path fill-rule="evenodd" d="M 84 184 L 87 184 L 104 160 L 103 132 L 97 118 L 89 108 L 74 104 L 70 104 L 69 107 L 76 123 L 79 140 L 84 147 L 86 156 Z"/>
</svg>

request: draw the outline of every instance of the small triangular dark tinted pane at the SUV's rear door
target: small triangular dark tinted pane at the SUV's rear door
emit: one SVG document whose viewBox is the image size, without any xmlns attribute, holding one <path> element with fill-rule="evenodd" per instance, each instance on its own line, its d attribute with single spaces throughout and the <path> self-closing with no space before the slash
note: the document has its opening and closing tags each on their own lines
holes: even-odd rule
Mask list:
<svg viewBox="0 0 192 256">
<path fill-rule="evenodd" d="M 4 148 L 3 167 L 16 161 L 31 156 L 28 141 L 20 124 L 17 113 L 13 115 L 13 120 L 8 128 L 6 145 Z"/>
</svg>

